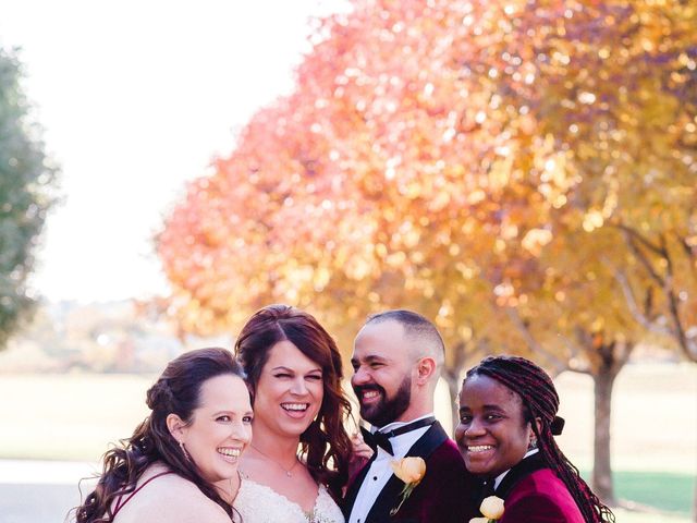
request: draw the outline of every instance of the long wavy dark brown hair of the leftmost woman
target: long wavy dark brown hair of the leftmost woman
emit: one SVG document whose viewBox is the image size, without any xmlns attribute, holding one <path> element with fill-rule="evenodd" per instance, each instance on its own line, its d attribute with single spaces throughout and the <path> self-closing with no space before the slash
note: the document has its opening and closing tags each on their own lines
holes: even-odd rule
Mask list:
<svg viewBox="0 0 697 523">
<path fill-rule="evenodd" d="M 194 483 L 232 520 L 234 509 L 203 477 L 167 427 L 169 414 L 179 415 L 185 423 L 192 422 L 194 410 L 200 405 L 204 382 L 228 374 L 244 379 L 242 366 L 224 349 L 199 349 L 171 361 L 147 391 L 146 403 L 151 410 L 150 415 L 130 438 L 122 439 L 120 446 L 103 455 L 103 470 L 95 490 L 75 509 L 76 522 L 113 521 L 113 501 L 132 492 L 143 472 L 155 462 L 163 463 L 175 474 Z"/>
</svg>

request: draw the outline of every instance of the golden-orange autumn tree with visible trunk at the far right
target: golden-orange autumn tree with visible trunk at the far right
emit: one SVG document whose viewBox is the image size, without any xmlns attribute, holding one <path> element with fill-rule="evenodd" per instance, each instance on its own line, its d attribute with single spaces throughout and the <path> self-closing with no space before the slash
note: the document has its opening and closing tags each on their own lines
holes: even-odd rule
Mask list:
<svg viewBox="0 0 697 523">
<path fill-rule="evenodd" d="M 533 191 L 523 199 L 548 200 L 542 227 L 501 223 L 515 231 L 511 240 L 522 239 L 523 253 L 530 251 L 526 240 L 543 240 L 531 245 L 547 275 L 526 270 L 499 289 L 513 300 L 511 315 L 528 345 L 542 348 L 530 336 L 537 329 L 562 336 L 585 356 L 582 365 L 568 361 L 594 377 L 594 486 L 611 500 L 612 385 L 643 335 L 631 316 L 689 345 L 682 326 L 690 305 L 677 296 L 687 302 L 695 293 L 695 4 L 527 2 L 504 12 L 510 37 L 490 40 L 470 66 L 496 77 L 492 99 L 534 122 L 554 154 L 527 171 L 541 173 L 527 178 Z M 516 271 L 515 264 L 505 267 Z M 562 303 L 545 307 L 543 294 L 526 292 L 530 277 L 551 291 L 552 305 L 568 300 L 571 316 Z M 570 300 L 568 289 L 586 291 Z M 521 306 L 521 297 L 534 301 Z M 575 336 L 565 335 L 568 328 Z"/>
</svg>

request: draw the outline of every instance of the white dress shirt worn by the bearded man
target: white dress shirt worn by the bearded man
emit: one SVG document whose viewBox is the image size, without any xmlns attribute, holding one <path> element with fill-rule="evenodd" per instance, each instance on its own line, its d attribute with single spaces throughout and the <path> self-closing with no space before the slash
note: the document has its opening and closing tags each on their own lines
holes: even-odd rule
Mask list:
<svg viewBox="0 0 697 523">
<path fill-rule="evenodd" d="M 380 427 L 380 431 L 388 433 L 408 423 L 413 423 L 417 419 L 423 419 L 432 415 L 433 414 L 431 413 L 425 416 L 409 419 L 408 422 L 390 423 L 384 427 Z M 378 499 L 378 496 L 387 485 L 390 476 L 392 476 L 392 467 L 390 466 L 390 462 L 404 458 L 409 449 L 414 446 L 414 443 L 421 436 L 424 436 L 429 428 L 430 425 L 391 437 L 390 443 L 392 443 L 394 455 L 390 455 L 390 453 L 388 453 L 382 447 L 378 447 L 378 455 L 370 464 L 368 474 L 366 474 L 366 477 L 360 485 L 360 489 L 356 495 L 356 500 L 353 503 L 353 509 L 351 510 L 351 515 L 348 516 L 347 523 L 363 523 L 366 521 L 366 518 L 368 516 L 370 509 L 375 504 L 375 501 Z"/>
</svg>

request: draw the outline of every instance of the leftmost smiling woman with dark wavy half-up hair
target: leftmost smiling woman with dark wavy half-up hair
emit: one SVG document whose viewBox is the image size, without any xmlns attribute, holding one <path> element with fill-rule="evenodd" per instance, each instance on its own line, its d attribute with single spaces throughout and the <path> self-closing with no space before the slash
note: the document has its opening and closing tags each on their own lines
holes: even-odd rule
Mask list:
<svg viewBox="0 0 697 523">
<path fill-rule="evenodd" d="M 237 460 L 252 438 L 242 366 L 224 349 L 170 362 L 147 391 L 150 415 L 109 450 L 77 523 L 239 522 Z"/>
</svg>

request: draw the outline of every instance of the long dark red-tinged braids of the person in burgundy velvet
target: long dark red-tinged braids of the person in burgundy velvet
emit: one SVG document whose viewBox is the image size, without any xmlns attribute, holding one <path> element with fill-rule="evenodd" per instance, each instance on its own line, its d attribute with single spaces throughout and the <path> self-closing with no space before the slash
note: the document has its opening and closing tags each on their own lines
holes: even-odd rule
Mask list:
<svg viewBox="0 0 697 523">
<path fill-rule="evenodd" d="M 545 463 L 564 482 L 584 519 L 589 523 L 614 522 L 614 514 L 596 496 L 557 446 L 564 421 L 557 416 L 559 394 L 549 375 L 529 360 L 517 356 L 489 356 L 467 372 L 472 376 L 496 379 L 523 400 L 526 422 L 530 423 Z M 538 429 L 536 419 L 540 421 Z"/>
</svg>

